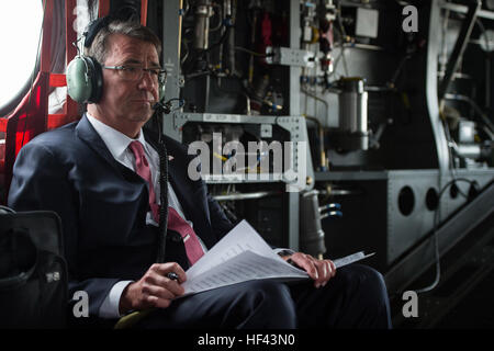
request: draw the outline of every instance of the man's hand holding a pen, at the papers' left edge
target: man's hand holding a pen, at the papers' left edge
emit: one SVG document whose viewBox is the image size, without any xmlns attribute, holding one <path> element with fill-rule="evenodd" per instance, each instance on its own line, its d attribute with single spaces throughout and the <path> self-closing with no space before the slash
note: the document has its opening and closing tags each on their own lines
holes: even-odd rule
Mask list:
<svg viewBox="0 0 494 351">
<path fill-rule="evenodd" d="M 177 273 L 178 281 L 168 279 L 166 275 L 169 272 Z M 180 284 L 186 280 L 186 272 L 180 264 L 155 263 L 139 281 L 125 287 L 120 298 L 120 312 L 123 314 L 149 307 L 166 308 L 175 297 L 183 295 L 184 290 Z"/>
</svg>

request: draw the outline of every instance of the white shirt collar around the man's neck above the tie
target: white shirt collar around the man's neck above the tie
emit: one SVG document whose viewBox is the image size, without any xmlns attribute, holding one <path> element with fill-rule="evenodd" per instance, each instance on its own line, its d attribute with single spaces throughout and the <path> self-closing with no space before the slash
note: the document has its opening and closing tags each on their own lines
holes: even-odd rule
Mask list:
<svg viewBox="0 0 494 351">
<path fill-rule="evenodd" d="M 148 152 L 147 143 L 144 138 L 144 133 L 142 129 L 139 131 L 137 138 L 133 139 L 123 134 L 122 132 L 119 132 L 112 128 L 111 126 L 104 124 L 100 120 L 97 120 L 88 112 L 86 112 L 86 115 L 88 117 L 89 123 L 91 123 L 91 125 L 94 127 L 94 129 L 97 131 L 99 136 L 103 139 L 108 149 L 115 159 L 122 159 L 128 145 L 134 140 L 138 140 L 141 144 L 143 144 L 144 149 Z"/>
</svg>

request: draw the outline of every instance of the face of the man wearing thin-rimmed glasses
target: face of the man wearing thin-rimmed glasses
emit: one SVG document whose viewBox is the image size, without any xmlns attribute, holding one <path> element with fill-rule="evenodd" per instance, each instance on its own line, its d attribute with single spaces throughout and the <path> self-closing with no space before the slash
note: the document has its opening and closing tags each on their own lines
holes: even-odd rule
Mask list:
<svg viewBox="0 0 494 351">
<path fill-rule="evenodd" d="M 159 67 L 156 47 L 122 34 L 108 37 L 106 60 L 102 66 Z M 103 94 L 97 117 L 115 129 L 135 137 L 153 115 L 151 106 L 158 101 L 158 83 L 149 72 L 128 81 L 120 71 L 103 68 Z"/>
</svg>

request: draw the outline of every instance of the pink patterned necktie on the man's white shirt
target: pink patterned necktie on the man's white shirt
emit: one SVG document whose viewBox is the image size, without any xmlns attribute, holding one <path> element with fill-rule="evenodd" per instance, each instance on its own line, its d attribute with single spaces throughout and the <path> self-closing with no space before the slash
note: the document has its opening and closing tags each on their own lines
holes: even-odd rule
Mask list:
<svg viewBox="0 0 494 351">
<path fill-rule="evenodd" d="M 146 156 L 144 155 L 144 147 L 137 140 L 132 141 L 128 147 L 135 156 L 136 173 L 149 184 L 149 206 L 151 208 L 154 219 L 156 223 L 159 223 L 159 206 L 156 204 L 156 194 L 153 186 L 150 168 Z M 180 234 L 186 246 L 187 257 L 191 265 L 194 264 L 204 254 L 204 251 L 199 242 L 199 238 L 195 235 L 194 229 L 192 229 L 192 227 L 182 217 L 180 217 L 177 211 L 171 206 L 168 207 L 168 228 Z"/>
</svg>

